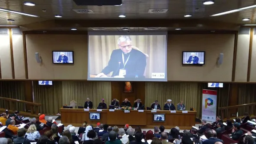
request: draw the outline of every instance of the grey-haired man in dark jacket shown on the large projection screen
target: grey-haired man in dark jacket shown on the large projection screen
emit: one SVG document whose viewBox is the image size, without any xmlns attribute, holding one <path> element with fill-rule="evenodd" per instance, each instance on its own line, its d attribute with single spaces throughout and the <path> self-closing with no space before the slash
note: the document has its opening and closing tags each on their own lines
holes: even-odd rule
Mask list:
<svg viewBox="0 0 256 144">
<path fill-rule="evenodd" d="M 146 55 L 132 47 L 129 36 L 117 40 L 120 49 L 113 50 L 106 66 L 96 77 L 105 77 L 110 72 L 115 78 L 144 78 Z"/>
</svg>

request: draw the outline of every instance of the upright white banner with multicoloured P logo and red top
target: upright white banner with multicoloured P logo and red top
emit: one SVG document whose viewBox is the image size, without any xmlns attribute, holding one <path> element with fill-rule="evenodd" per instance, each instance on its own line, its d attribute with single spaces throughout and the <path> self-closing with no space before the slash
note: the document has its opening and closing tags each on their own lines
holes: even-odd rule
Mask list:
<svg viewBox="0 0 256 144">
<path fill-rule="evenodd" d="M 216 121 L 217 91 L 203 89 L 202 120 Z"/>
</svg>

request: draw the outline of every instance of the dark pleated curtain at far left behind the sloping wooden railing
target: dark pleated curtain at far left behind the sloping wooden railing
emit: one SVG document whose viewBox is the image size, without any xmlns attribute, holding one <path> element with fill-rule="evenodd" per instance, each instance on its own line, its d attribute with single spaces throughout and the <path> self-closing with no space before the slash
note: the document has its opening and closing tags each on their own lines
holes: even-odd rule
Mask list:
<svg viewBox="0 0 256 144">
<path fill-rule="evenodd" d="M 0 81 L 0 97 L 7 97 L 17 100 L 25 100 L 24 82 L 23 81 Z M 7 102 L 7 101 L 6 101 Z M 0 108 L 8 108 L 9 103 L 0 100 Z M 25 112 L 25 104 L 15 103 L 15 108 Z"/>
</svg>

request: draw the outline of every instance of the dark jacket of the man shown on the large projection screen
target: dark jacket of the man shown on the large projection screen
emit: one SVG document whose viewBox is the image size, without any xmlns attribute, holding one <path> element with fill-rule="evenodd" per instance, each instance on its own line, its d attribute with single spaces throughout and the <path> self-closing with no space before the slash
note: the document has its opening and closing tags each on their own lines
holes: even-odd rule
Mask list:
<svg viewBox="0 0 256 144">
<path fill-rule="evenodd" d="M 107 75 L 110 72 L 113 72 L 112 76 L 118 76 L 119 70 L 124 68 L 124 63 L 122 59 L 123 51 L 121 49 L 113 50 L 108 61 L 108 66 L 106 66 L 102 72 Z M 146 68 L 146 56 L 144 53 L 132 49 L 129 53 L 130 57 L 125 65 L 126 75 L 125 78 L 135 78 L 137 75 L 138 78 L 144 78 L 144 71 Z M 124 60 L 125 62 L 126 60 Z"/>
</svg>

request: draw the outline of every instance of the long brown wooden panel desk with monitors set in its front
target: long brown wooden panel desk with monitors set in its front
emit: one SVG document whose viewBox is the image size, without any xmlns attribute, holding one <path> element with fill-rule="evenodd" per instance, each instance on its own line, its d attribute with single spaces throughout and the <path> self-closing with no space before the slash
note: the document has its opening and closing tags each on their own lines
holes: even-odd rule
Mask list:
<svg viewBox="0 0 256 144">
<path fill-rule="evenodd" d="M 99 122 L 112 126 L 117 125 L 120 128 L 123 128 L 125 124 L 129 124 L 131 126 L 140 126 L 141 128 L 154 128 L 155 126 L 164 125 L 165 128 L 178 126 L 180 129 L 190 129 L 196 123 L 195 111 L 188 111 L 188 113 L 176 111 L 176 113 L 171 113 L 170 111 L 151 112 L 151 110 L 144 110 L 144 112 L 138 112 L 138 110 L 131 110 L 129 113 L 124 113 L 123 110 L 109 112 L 108 109 L 103 109 L 100 112 L 100 120 L 89 120 L 89 112 L 97 112 L 97 110 L 84 111 L 82 108 L 60 108 L 61 123 L 65 126 L 68 124 L 81 126 L 86 121 L 87 124 L 96 125 Z M 165 121 L 154 122 L 153 114 L 165 114 Z"/>
</svg>

